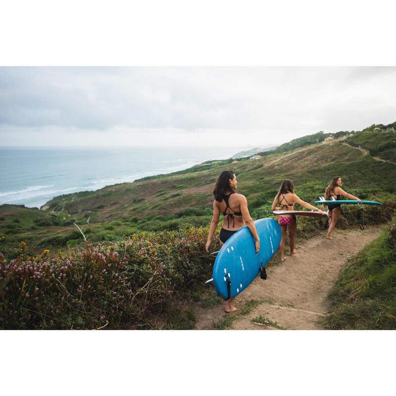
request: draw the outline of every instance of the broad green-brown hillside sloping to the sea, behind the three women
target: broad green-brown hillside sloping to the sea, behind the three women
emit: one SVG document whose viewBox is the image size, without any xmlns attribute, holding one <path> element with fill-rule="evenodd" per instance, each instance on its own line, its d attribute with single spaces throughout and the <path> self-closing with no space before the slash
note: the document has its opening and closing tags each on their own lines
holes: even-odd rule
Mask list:
<svg viewBox="0 0 396 396">
<path fill-rule="evenodd" d="M 255 160 L 207 161 L 133 183 L 63 195 L 47 202 L 45 210 L 1 205 L 3 247 L 10 257 L 16 257 L 20 241 L 37 249 L 73 246 L 81 243 L 74 221 L 84 227 L 92 243 L 181 225 L 206 226 L 212 213 L 214 183 L 222 170 L 230 168 L 254 219 L 272 213 L 270 205 L 285 178 L 294 181 L 297 195 L 308 202 L 323 195 L 335 175 L 342 176 L 347 192 L 363 199 L 392 201 L 396 193 L 394 164 L 331 141 Z"/>
</svg>

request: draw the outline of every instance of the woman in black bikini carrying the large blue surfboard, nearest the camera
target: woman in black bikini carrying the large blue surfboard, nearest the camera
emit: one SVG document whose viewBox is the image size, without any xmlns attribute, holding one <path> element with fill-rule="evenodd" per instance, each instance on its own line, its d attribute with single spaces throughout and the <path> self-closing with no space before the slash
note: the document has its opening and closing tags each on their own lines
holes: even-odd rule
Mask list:
<svg viewBox="0 0 396 396">
<path fill-rule="evenodd" d="M 220 231 L 220 248 L 245 224 L 254 238 L 256 253 L 260 249 L 260 239 L 258 238 L 256 227 L 247 210 L 247 200 L 242 194 L 237 194 L 237 177 L 232 170 L 225 170 L 220 173 L 214 186 L 213 195 L 213 217 L 210 222 L 209 235 L 206 242 L 206 251 L 209 252 L 210 242 L 219 222 L 220 212 L 223 213 L 224 220 Z M 232 300 L 227 300 L 224 310 L 226 312 L 236 311 L 232 305 Z"/>
</svg>

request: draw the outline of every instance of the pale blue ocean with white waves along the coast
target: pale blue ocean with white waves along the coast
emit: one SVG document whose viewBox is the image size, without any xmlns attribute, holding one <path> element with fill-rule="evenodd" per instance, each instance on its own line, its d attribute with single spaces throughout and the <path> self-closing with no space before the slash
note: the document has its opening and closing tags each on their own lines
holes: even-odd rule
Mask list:
<svg viewBox="0 0 396 396">
<path fill-rule="evenodd" d="M 235 152 L 202 147 L 0 148 L 0 204 L 41 207 L 59 195 L 171 173 Z"/>
</svg>

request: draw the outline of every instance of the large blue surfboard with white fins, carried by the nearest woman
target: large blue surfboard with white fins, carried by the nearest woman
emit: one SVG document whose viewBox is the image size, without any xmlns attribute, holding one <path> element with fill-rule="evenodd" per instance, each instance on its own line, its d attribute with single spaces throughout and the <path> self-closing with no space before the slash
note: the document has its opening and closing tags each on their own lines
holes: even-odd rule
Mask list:
<svg viewBox="0 0 396 396">
<path fill-rule="evenodd" d="M 247 226 L 229 238 L 217 254 L 213 284 L 217 294 L 225 299 L 247 288 L 260 271 L 261 262 L 263 266 L 267 264 L 281 242 L 281 227 L 274 219 L 259 219 L 254 224 L 260 238 L 259 254 Z"/>
</svg>

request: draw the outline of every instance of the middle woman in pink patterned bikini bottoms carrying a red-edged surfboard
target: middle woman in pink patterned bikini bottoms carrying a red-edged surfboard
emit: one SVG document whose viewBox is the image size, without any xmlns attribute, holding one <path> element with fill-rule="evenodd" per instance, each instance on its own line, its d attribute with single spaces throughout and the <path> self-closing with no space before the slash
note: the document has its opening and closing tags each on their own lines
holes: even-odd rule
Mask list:
<svg viewBox="0 0 396 396">
<path fill-rule="evenodd" d="M 272 210 L 293 210 L 295 203 L 304 206 L 308 209 L 316 210 L 323 213 L 321 209 L 318 209 L 307 202 L 304 202 L 294 193 L 294 184 L 291 180 L 286 179 L 283 181 L 278 194 L 276 195 L 274 202 L 272 203 Z M 279 207 L 277 206 L 279 205 Z M 289 229 L 289 245 L 290 245 L 290 255 L 296 254 L 297 250 L 294 248 L 295 237 L 297 233 L 297 219 L 296 216 L 291 214 L 284 214 L 279 216 L 279 225 L 282 230 L 281 243 L 279 249 L 281 251 L 281 261 L 285 261 L 285 242 L 286 242 L 286 231 Z"/>
</svg>

